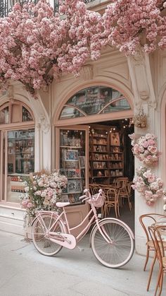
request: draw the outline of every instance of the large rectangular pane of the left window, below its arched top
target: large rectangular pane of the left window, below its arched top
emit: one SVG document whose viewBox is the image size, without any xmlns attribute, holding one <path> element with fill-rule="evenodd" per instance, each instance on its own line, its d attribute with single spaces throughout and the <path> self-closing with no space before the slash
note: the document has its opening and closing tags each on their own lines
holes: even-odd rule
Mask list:
<svg viewBox="0 0 166 296">
<path fill-rule="evenodd" d="M 34 172 L 34 129 L 8 131 L 7 201 L 20 203 L 23 181 Z"/>
</svg>

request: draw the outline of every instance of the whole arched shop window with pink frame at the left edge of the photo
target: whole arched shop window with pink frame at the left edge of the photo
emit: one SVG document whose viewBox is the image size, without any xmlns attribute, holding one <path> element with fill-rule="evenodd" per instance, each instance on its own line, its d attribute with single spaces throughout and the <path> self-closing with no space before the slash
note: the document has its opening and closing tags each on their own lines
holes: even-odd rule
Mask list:
<svg viewBox="0 0 166 296">
<path fill-rule="evenodd" d="M 23 102 L 0 107 L 0 199 L 20 204 L 26 177 L 34 172 L 34 117 Z"/>
</svg>

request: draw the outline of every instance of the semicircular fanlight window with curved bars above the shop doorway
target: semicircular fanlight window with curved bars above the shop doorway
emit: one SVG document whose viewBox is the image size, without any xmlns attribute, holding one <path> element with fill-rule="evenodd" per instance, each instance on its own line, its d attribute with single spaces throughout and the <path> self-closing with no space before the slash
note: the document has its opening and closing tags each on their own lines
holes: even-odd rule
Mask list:
<svg viewBox="0 0 166 296">
<path fill-rule="evenodd" d="M 84 117 L 94 114 L 131 109 L 118 90 L 104 86 L 84 88 L 70 97 L 60 114 L 60 119 Z"/>
</svg>

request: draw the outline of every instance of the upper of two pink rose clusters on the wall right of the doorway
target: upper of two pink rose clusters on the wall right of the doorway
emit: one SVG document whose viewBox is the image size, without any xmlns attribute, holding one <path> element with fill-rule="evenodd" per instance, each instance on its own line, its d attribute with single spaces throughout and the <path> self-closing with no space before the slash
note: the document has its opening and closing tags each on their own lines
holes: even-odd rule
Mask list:
<svg viewBox="0 0 166 296">
<path fill-rule="evenodd" d="M 157 148 L 156 137 L 153 134 L 146 134 L 145 136 L 130 134 L 129 138 L 132 139 L 134 156 L 139 158 L 143 165 L 158 165 L 160 153 Z"/>
</svg>

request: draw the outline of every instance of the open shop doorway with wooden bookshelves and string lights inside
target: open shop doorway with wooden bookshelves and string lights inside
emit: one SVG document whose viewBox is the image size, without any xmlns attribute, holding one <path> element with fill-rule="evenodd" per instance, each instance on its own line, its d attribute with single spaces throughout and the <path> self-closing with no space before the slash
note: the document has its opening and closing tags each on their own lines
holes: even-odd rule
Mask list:
<svg viewBox="0 0 166 296">
<path fill-rule="evenodd" d="M 127 181 L 129 199 L 122 192 L 119 194 L 118 218 L 134 231 L 134 191 L 131 188 L 134 156 L 128 136 L 133 132 L 134 126 L 129 119 L 89 124 L 89 185 L 91 188 L 97 185 L 104 189 L 107 186 L 116 187 L 118 180 L 119 187 L 122 187 L 122 180 Z M 110 207 L 104 215 L 116 218 L 115 208 Z"/>
</svg>

